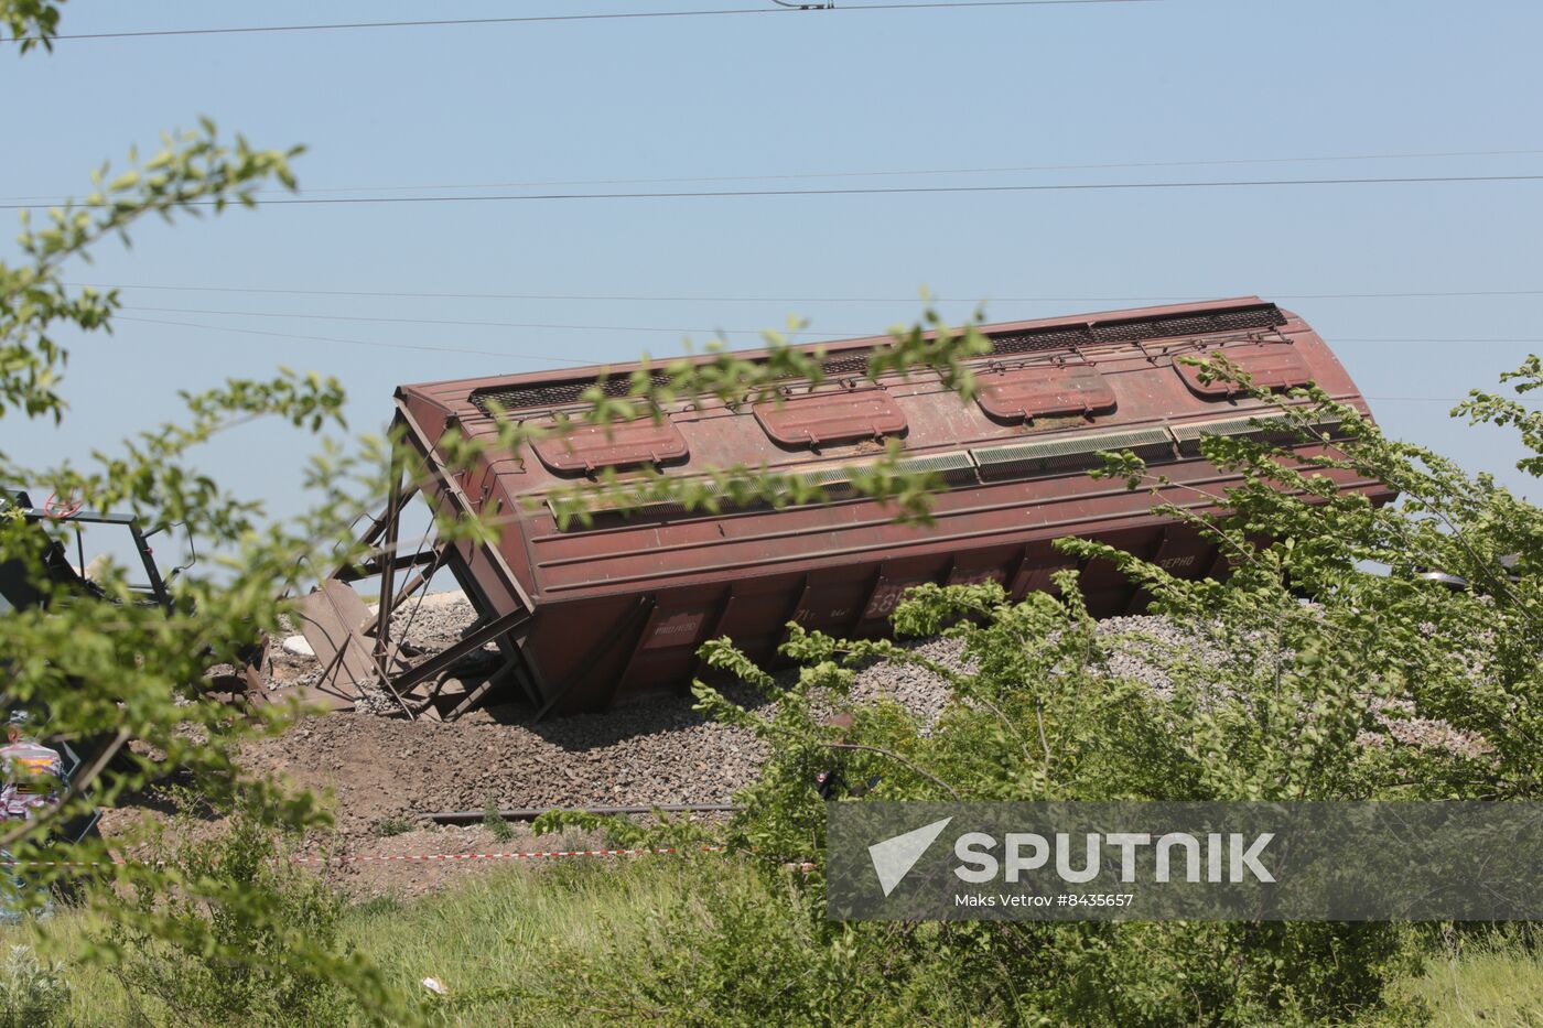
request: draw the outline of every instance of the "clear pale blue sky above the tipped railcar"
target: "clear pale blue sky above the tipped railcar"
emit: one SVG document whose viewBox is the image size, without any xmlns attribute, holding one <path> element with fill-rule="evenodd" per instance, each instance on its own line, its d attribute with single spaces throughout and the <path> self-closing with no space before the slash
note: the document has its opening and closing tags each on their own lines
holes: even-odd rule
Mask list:
<svg viewBox="0 0 1543 1028">
<path fill-rule="evenodd" d="M 63 31 L 693 6 L 773 5 L 76 0 Z M 198 114 L 306 144 L 310 196 L 1535 174 L 1543 154 L 772 178 L 1543 150 L 1540 37 L 1526 0 L 1165 0 L 60 42 L 0 60 L 0 196 L 83 193 L 96 164 Z M 744 181 L 571 185 L 728 176 Z M 1543 346 L 1477 341 L 1543 340 L 1543 295 L 1299 295 L 1543 290 L 1540 230 L 1543 182 L 270 207 L 147 225 L 133 250 L 73 269 L 127 286 L 130 310 L 76 346 L 66 426 L 6 418 L 0 443 L 32 465 L 80 460 L 160 420 L 177 389 L 281 363 L 339 377 L 352 428 L 373 431 L 398 383 L 668 353 L 679 329 L 790 313 L 870 333 L 915 316 L 921 286 L 988 299 L 992 320 L 1259 293 L 1324 333 L 1393 434 L 1526 489 L 1509 437 L 1454 428 L 1441 400 Z M 852 296 L 887 299 L 821 301 Z M 282 512 L 310 446 L 255 426 L 211 460 Z"/>
</svg>

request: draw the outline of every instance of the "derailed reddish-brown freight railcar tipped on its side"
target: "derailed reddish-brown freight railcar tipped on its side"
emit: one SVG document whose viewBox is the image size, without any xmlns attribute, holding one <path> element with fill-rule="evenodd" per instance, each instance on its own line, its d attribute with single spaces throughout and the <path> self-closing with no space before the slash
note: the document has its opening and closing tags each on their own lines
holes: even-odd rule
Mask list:
<svg viewBox="0 0 1543 1028">
<path fill-rule="evenodd" d="M 824 344 L 830 381 L 788 383 L 781 406 L 682 401 L 663 423 L 543 440 L 460 475 L 438 463 L 447 429 L 488 437 L 494 411 L 537 421 L 576 414 L 602 369 L 403 386 L 397 418 L 435 469 L 421 483 L 430 503 L 452 512 L 497 505 L 498 545 L 460 543 L 447 565 L 483 625 L 501 634 L 514 678 L 543 712 L 562 713 L 680 688 L 701 673 L 696 650 L 711 637 L 768 659 L 790 621 L 842 636 L 883 633 L 904 590 L 921 582 L 994 579 L 1012 596 L 1049 588 L 1069 563 L 1051 545 L 1062 536 L 1106 540 L 1180 576 L 1225 573 L 1225 560 L 1191 529 L 1151 514 L 1148 494 L 1086 474 L 1099 451 L 1129 449 L 1168 475 L 1173 500 L 1191 508 L 1233 482 L 1200 458 L 1197 440 L 1258 431 L 1250 418 L 1261 403 L 1202 383 L 1179 357 L 1222 353 L 1261 386 L 1313 381 L 1369 414 L 1318 333 L 1259 298 L 984 332 L 994 352 L 975 361 L 980 397 L 969 404 L 927 370 L 866 383 L 867 353 L 887 343 L 869 338 Z M 609 367 L 608 383 L 625 391 L 631 370 Z M 935 499 L 930 526 L 896 523 L 893 509 L 839 492 L 826 505 L 719 514 L 659 506 L 563 528 L 539 503 L 600 468 L 645 465 L 690 477 L 764 463 L 839 485 L 842 469 L 873 460 L 892 438 L 950 486 Z M 1338 477 L 1344 488 L 1390 499 L 1375 482 Z M 1100 616 L 1142 602 L 1108 566 L 1085 568 L 1083 588 Z"/>
</svg>

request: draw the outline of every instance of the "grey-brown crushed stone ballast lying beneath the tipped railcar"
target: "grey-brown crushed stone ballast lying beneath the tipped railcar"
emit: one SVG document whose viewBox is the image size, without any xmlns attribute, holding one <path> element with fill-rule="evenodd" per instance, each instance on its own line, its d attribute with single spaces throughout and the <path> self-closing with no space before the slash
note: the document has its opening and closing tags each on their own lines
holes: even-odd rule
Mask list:
<svg viewBox="0 0 1543 1028">
<path fill-rule="evenodd" d="M 474 621 L 458 593 L 429 596 L 397 614 L 397 631 L 423 653 L 444 648 Z M 1113 617 L 1099 625 L 1109 645 L 1108 673 L 1146 684 L 1168 696 L 1173 682 L 1153 658 L 1154 647 L 1177 644 L 1191 656 L 1224 664 L 1227 656 L 1187 637 L 1156 616 Z M 1154 642 L 1157 641 L 1157 642 Z M 960 644 L 910 644 L 918 654 L 966 670 Z M 275 647 L 273 688 L 315 681 L 315 661 Z M 764 702 L 747 687 L 727 687 L 731 699 Z M 946 679 L 927 668 L 881 662 L 863 668 L 853 696 L 889 696 L 930 725 L 950 701 Z M 332 790 L 344 835 L 367 834 L 381 820 L 430 810 L 549 806 L 650 806 L 727 803 L 765 759 L 747 730 L 693 710 L 693 698 L 660 696 L 602 715 L 532 722 L 525 704 L 478 710 L 444 724 L 409 722 L 370 713 L 310 718 L 282 736 L 250 746 L 253 770 L 287 775 L 299 786 Z M 1483 741 L 1450 725 L 1410 718 L 1390 707 L 1381 719 L 1404 742 L 1483 752 Z M 1376 744 L 1378 736 L 1367 739 Z"/>
</svg>

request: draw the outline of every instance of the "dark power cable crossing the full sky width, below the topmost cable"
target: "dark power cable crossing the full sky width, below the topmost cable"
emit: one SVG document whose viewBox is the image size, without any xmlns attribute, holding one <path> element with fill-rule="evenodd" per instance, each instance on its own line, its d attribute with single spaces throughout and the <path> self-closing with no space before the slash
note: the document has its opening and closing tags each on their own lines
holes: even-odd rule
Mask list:
<svg viewBox="0 0 1543 1028">
<path fill-rule="evenodd" d="M 853 188 L 807 188 L 807 190 L 680 190 L 653 193 L 485 193 L 477 196 L 330 196 L 262 201 L 264 207 L 321 207 L 346 204 L 483 204 L 483 202 L 549 202 L 594 199 L 702 199 L 748 196 L 917 196 L 924 193 L 1068 193 L 1068 191 L 1128 191 L 1128 190 L 1200 190 L 1239 187 L 1288 187 L 1288 185 L 1429 185 L 1449 182 L 1543 182 L 1543 174 L 1429 174 L 1429 176 L 1379 176 L 1339 179 L 1217 179 L 1193 182 L 1043 182 L 1031 185 L 896 185 Z M 214 207 L 219 201 L 190 201 L 187 207 Z M 26 204 L 0 204 L 0 210 L 22 210 Z"/>
</svg>

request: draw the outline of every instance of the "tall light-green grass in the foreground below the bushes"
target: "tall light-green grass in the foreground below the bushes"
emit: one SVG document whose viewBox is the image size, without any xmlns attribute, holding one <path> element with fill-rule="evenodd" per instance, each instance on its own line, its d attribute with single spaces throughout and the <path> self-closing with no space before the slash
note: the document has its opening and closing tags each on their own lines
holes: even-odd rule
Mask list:
<svg viewBox="0 0 1543 1028">
<path fill-rule="evenodd" d="M 676 914 L 670 920 L 674 931 L 654 938 L 651 951 L 657 955 L 662 945 L 688 952 L 701 948 L 702 934 L 713 931 L 714 911 L 731 900 L 776 906 L 762 880 L 733 858 L 574 860 L 500 867 L 412 900 L 367 900 L 349 909 L 344 932 L 397 985 L 423 997 L 430 1023 L 606 1023 L 614 1020 L 611 1011 L 552 1002 L 574 996 L 572 977 L 582 966 L 594 971 L 586 959 L 602 962 L 603 974 L 614 976 L 613 986 L 645 979 L 642 962 L 650 948 L 642 945 L 642 932 L 657 926 L 662 912 Z M 69 1005 L 48 1023 L 179 1023 L 153 1000 L 131 996 L 110 971 L 79 960 L 97 928 L 88 914 L 62 911 L 32 928 L 0 931 L 0 946 L 35 943 L 45 957 L 65 963 Z M 1538 942 L 1543 935 L 1531 926 L 1454 935 L 1430 955 L 1423 974 L 1398 982 L 1395 991 L 1421 1000 L 1437 1025 L 1543 1028 Z M 778 959 L 765 954 L 768 962 Z M 421 985 L 426 977 L 443 983 L 447 996 L 429 992 Z M 844 1020 L 841 1011 L 832 1017 Z M 938 1023 L 952 1020 L 944 1014 Z"/>
</svg>

